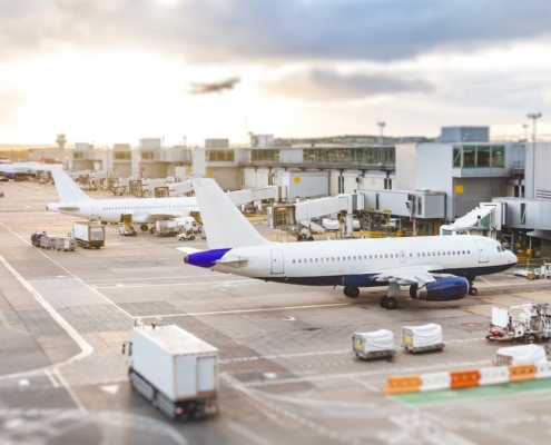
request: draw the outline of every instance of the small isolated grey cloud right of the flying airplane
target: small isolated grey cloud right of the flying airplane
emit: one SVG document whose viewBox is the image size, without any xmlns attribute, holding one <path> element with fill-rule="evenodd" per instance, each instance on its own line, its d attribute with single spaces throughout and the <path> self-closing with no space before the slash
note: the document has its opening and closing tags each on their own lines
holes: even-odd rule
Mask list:
<svg viewBox="0 0 551 445">
<path fill-rule="evenodd" d="M 434 87 L 424 80 L 390 75 L 342 75 L 332 69 L 294 72 L 278 81 L 264 82 L 262 87 L 272 95 L 309 102 L 341 102 L 383 95 L 434 91 Z"/>
</svg>

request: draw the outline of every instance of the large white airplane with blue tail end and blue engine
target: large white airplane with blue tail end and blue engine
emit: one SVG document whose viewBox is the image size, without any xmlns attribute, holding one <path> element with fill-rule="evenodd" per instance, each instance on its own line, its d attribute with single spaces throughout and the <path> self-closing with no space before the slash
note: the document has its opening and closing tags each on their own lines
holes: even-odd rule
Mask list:
<svg viewBox="0 0 551 445">
<path fill-rule="evenodd" d="M 186 250 L 184 263 L 213 270 L 311 286 L 344 286 L 357 298 L 361 287 L 388 286 L 381 307 L 396 308 L 401 286 L 412 298 L 449 301 L 476 295 L 479 275 L 516 264 L 516 256 L 492 238 L 431 236 L 316 243 L 270 243 L 246 220 L 211 179 L 193 179 L 209 250 Z"/>
</svg>

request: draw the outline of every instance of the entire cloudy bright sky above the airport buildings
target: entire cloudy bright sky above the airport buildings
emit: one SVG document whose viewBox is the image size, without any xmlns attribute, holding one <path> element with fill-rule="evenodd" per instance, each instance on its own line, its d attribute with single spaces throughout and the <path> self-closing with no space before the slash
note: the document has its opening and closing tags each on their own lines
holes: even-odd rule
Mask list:
<svg viewBox="0 0 551 445">
<path fill-rule="evenodd" d="M 522 139 L 534 112 L 549 140 L 550 22 L 549 0 L 0 0 L 0 144 L 237 145 L 377 122 Z"/>
</svg>

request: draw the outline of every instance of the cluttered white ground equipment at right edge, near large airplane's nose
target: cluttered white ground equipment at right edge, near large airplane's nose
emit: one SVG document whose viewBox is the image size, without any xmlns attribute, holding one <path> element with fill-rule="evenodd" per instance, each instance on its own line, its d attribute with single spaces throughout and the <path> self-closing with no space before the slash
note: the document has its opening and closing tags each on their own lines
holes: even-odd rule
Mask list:
<svg viewBox="0 0 551 445">
<path fill-rule="evenodd" d="M 509 309 L 492 307 L 489 342 L 537 343 L 551 338 L 551 308 L 547 303 L 529 303 Z"/>
</svg>

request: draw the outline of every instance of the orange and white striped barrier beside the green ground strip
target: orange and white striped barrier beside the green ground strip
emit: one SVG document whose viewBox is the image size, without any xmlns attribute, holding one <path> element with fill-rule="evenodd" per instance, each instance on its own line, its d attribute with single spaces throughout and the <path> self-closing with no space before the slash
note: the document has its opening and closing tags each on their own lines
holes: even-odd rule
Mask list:
<svg viewBox="0 0 551 445">
<path fill-rule="evenodd" d="M 421 393 L 551 378 L 551 362 L 386 377 L 385 394 Z"/>
</svg>

